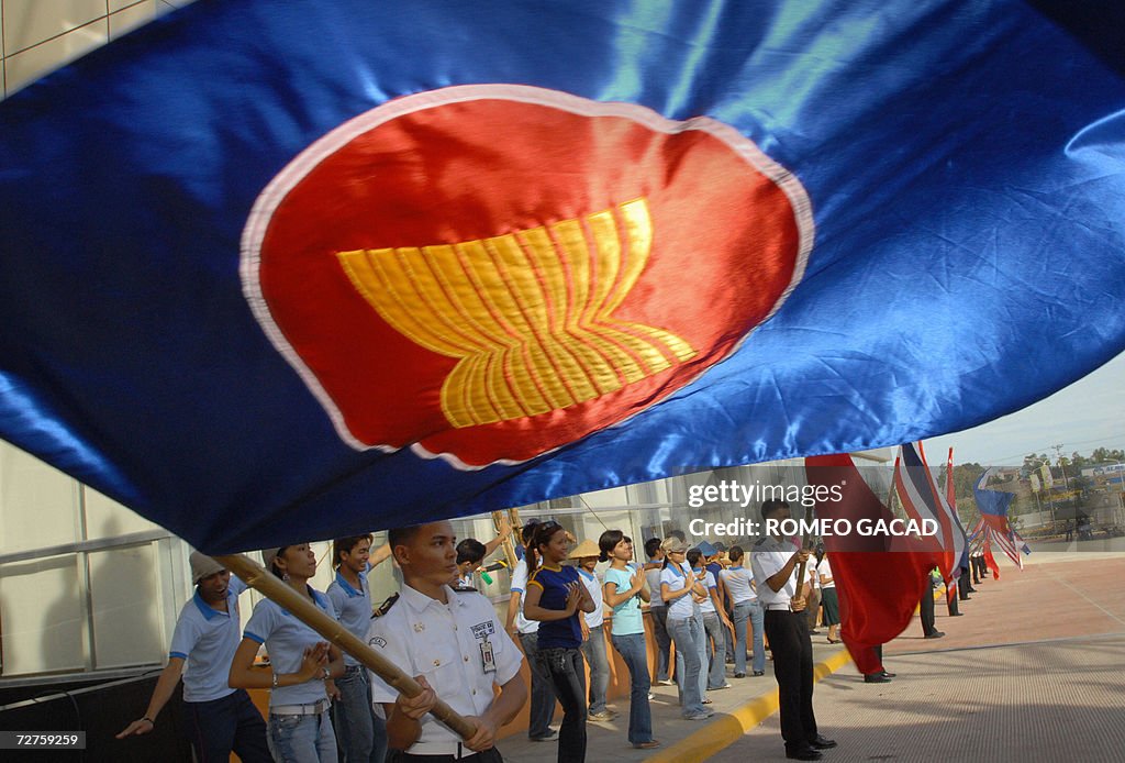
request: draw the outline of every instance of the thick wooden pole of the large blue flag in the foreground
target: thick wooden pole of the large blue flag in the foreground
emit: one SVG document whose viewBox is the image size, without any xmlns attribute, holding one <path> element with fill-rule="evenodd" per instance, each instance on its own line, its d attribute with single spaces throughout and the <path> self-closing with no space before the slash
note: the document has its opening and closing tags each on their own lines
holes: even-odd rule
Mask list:
<svg viewBox="0 0 1125 763">
<path fill-rule="evenodd" d="M 367 665 L 389 685 L 407 697 L 417 697 L 422 693 L 422 686 L 414 679 L 406 675 L 402 668 L 358 639 L 336 620 L 330 618 L 313 602 L 290 589 L 277 575 L 263 568 L 262 565 L 243 554 L 216 556 L 214 558 L 225 569 L 230 569 L 245 581 L 246 585 L 277 602 L 289 612 L 292 612 L 306 626 Z M 464 739 L 468 739 L 476 733 L 476 727 L 472 724 L 458 715 L 440 698 L 430 712 Z"/>
</svg>

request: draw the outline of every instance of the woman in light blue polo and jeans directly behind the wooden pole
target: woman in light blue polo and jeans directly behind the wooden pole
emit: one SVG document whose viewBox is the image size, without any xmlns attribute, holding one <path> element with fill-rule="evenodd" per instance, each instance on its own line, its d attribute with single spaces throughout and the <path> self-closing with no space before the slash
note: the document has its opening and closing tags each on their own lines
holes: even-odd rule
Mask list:
<svg viewBox="0 0 1125 763">
<path fill-rule="evenodd" d="M 332 601 L 315 591 L 316 554 L 308 544 L 262 551 L 270 572 L 333 619 Z M 254 668 L 258 647 L 266 644 L 270 671 Z M 328 718 L 328 697 L 339 692 L 333 679 L 344 674 L 343 653 L 269 599 L 254 605 L 242 643 L 231 663 L 232 686 L 270 689 L 268 742 L 274 760 L 336 763 L 336 739 Z"/>
</svg>

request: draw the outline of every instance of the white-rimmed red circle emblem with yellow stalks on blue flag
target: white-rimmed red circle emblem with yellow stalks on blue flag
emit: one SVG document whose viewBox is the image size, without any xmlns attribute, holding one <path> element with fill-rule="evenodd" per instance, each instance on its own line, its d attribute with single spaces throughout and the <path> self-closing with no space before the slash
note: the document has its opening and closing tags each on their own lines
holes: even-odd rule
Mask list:
<svg viewBox="0 0 1125 763">
<path fill-rule="evenodd" d="M 691 383 L 811 245 L 800 183 L 727 125 L 461 86 L 298 155 L 250 216 L 243 282 L 345 442 L 476 468 Z"/>
</svg>

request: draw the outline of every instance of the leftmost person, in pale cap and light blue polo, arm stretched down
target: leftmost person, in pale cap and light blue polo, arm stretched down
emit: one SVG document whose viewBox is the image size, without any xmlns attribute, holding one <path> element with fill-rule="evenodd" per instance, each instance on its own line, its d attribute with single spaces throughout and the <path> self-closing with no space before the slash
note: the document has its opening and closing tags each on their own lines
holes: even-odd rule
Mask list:
<svg viewBox="0 0 1125 763">
<path fill-rule="evenodd" d="M 234 752 L 245 763 L 267 763 L 272 757 L 261 713 L 244 690 L 226 683 L 238 647 L 238 594 L 246 584 L 232 578 L 218 562 L 199 551 L 192 551 L 189 562 L 196 593 L 176 621 L 168 665 L 156 680 L 144 716 L 117 738 L 152 731 L 182 674 L 183 727 L 196 760 L 225 763 Z"/>
</svg>

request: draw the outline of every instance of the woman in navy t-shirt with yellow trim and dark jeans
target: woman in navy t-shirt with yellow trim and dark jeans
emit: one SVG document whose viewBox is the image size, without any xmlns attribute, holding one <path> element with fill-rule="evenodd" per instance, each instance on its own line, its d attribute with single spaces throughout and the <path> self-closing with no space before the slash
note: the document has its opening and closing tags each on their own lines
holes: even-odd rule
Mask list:
<svg viewBox="0 0 1125 763">
<path fill-rule="evenodd" d="M 562 706 L 558 761 L 583 763 L 586 760 L 586 671 L 578 610 L 594 611 L 594 600 L 578 580 L 578 571 L 562 566 L 569 547 L 566 531 L 558 522 L 536 526 L 528 544 L 528 568 L 532 573 L 523 616 L 540 622 L 536 658 L 551 676 Z"/>
</svg>

